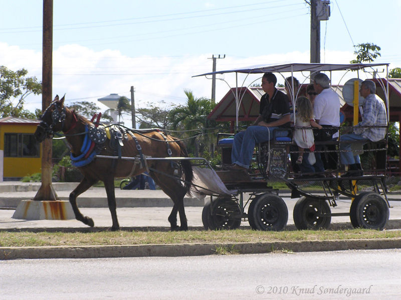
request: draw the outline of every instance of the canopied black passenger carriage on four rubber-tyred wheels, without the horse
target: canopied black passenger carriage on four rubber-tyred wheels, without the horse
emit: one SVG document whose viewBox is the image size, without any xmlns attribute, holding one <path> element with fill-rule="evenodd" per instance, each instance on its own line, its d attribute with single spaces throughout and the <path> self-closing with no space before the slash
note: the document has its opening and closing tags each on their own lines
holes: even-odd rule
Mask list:
<svg viewBox="0 0 401 300">
<path fill-rule="evenodd" d="M 361 70 L 370 69 L 370 73 L 373 73 L 375 71 L 373 70 L 374 67 L 383 66 L 387 67 L 385 64 L 288 64 L 259 66 L 202 75 L 234 72 L 237 78 L 238 73 L 244 73 L 248 76 L 254 73 L 278 72 L 280 74 L 291 73 L 290 78 L 293 78 L 294 72 L 311 72 L 312 74 L 329 71 L 331 77 L 332 71 L 358 71 L 359 75 Z M 303 73 L 302 75 L 305 76 Z M 347 89 L 343 91 L 344 100 L 351 106 L 354 104 L 355 92 L 348 87 L 349 85 L 354 85 L 354 81 L 357 82 L 355 88 L 358 89 L 358 81 L 360 84 L 361 80 L 353 79 L 347 82 L 345 85 Z M 387 80 L 376 80 L 377 85 L 381 88 L 380 93 L 385 99 L 388 121 L 387 82 Z M 294 87 L 293 84 L 289 84 L 289 86 Z M 356 92 L 356 97 L 358 98 L 357 95 Z M 244 95 L 237 93 L 235 96 L 238 112 Z M 290 91 L 290 96 L 292 105 L 295 107 L 297 92 Z M 357 108 L 358 105 L 355 107 Z M 341 134 L 345 130 L 352 129 L 352 126 L 341 126 L 336 129 Z M 354 227 L 374 229 L 383 229 L 385 227 L 389 218 L 389 202 L 385 183 L 387 139 L 376 143 L 370 141 L 354 142 L 355 148 L 360 148 L 361 144 L 367 144 L 364 151 L 369 152 L 370 157 L 374 157 L 375 161 L 384 161 L 384 163 L 381 163 L 381 165 L 376 163 L 371 165 L 371 168 L 365 168 L 365 175 L 349 177 L 342 177 L 344 170 L 341 169 L 339 163 L 340 140 L 315 142 L 316 145 L 331 144 L 334 146 L 336 149 L 334 151 L 337 153 L 338 158 L 337 169 L 330 170 L 327 173 L 306 173 L 299 176 L 291 169 L 291 163 L 289 162 L 290 154 L 294 152 L 293 146 L 295 146 L 291 136 L 292 134 L 290 133 L 288 137 L 274 137 L 269 142 L 257 145 L 254 153 L 254 165 L 256 167 L 251 169 L 250 172 L 217 170 L 226 186 L 236 192 L 226 196 L 211 194 L 211 199 L 205 205 L 202 215 L 205 228 L 238 228 L 241 220 L 248 219 L 253 229 L 283 229 L 287 224 L 288 209 L 283 199 L 279 196 L 279 189 L 274 188 L 277 182 L 285 183 L 288 186 L 291 190 L 291 198 L 299 198 L 293 209 L 293 219 L 298 229 L 328 228 L 331 217 L 334 216 L 349 216 Z M 232 139 L 218 138 L 218 144 L 222 150 L 222 161 L 227 164 L 231 163 Z M 324 150 L 317 152 L 322 152 L 320 153 L 321 155 L 326 154 Z M 330 207 L 337 205 L 336 201 L 340 195 L 352 199 L 349 212 L 332 213 Z"/>
</svg>

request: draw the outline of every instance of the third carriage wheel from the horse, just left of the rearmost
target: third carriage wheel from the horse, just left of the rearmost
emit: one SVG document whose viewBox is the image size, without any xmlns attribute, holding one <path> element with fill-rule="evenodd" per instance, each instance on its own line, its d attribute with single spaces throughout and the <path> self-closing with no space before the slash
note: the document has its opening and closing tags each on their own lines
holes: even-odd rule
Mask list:
<svg viewBox="0 0 401 300">
<path fill-rule="evenodd" d="M 301 197 L 293 210 L 295 226 L 298 229 L 327 229 L 331 216 L 323 216 L 324 213 L 330 213 L 327 201 Z"/>
</svg>

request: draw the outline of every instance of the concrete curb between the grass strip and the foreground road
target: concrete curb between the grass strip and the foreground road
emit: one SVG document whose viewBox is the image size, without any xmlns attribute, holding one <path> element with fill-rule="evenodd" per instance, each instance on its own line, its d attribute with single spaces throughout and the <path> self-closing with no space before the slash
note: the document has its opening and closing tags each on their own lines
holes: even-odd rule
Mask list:
<svg viewBox="0 0 401 300">
<path fill-rule="evenodd" d="M 401 238 L 258 243 L 154 244 L 113 246 L 0 247 L 0 260 L 45 258 L 105 258 L 200 256 L 219 253 L 256 254 L 273 251 L 317 252 L 400 248 Z M 223 249 L 224 252 L 220 252 Z"/>
</svg>

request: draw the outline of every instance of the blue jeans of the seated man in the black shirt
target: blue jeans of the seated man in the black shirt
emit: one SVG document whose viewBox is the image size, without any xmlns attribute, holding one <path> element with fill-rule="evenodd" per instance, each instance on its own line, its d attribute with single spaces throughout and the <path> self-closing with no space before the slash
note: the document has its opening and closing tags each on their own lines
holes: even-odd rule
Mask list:
<svg viewBox="0 0 401 300">
<path fill-rule="evenodd" d="M 280 127 L 250 126 L 234 136 L 231 161 L 243 168 L 248 169 L 254 153 L 255 145 L 273 139 L 273 131 Z M 281 129 L 281 128 L 280 128 Z M 288 132 L 280 130 L 276 136 L 287 136 Z"/>
</svg>

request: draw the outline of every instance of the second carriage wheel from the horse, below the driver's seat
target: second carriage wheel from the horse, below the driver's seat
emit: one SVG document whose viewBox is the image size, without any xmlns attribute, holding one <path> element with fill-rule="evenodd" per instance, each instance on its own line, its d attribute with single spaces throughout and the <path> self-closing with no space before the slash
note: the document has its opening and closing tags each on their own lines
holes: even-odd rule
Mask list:
<svg viewBox="0 0 401 300">
<path fill-rule="evenodd" d="M 256 229 L 279 231 L 287 225 L 288 209 L 282 198 L 266 193 L 253 202 L 255 202 L 253 211 L 250 212 L 253 217 L 251 220 L 255 223 Z M 252 226 L 251 222 L 250 225 Z"/>
</svg>

